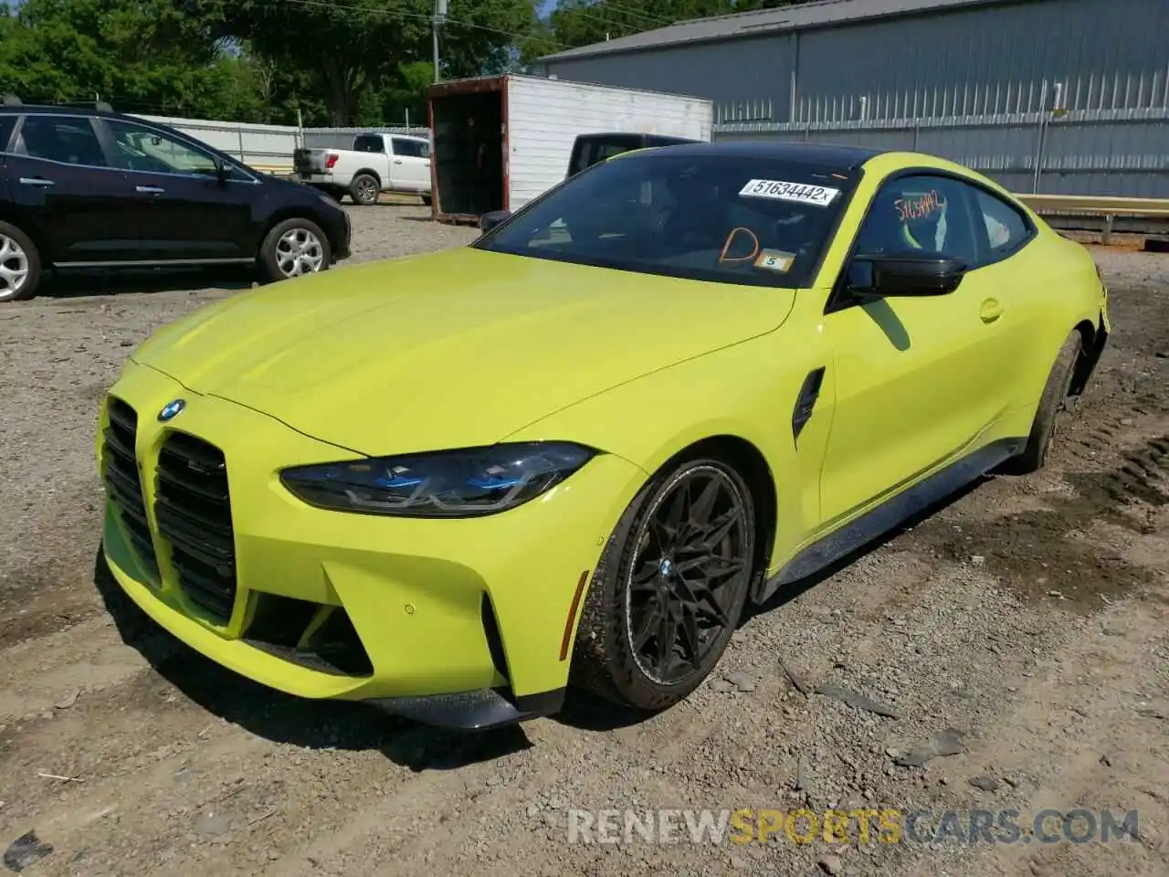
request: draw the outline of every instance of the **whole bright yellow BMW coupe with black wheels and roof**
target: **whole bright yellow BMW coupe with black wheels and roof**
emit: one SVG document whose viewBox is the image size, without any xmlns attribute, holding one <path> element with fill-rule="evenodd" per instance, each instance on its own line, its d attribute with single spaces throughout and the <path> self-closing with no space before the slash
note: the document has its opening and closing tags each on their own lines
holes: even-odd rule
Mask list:
<svg viewBox="0 0 1169 877">
<path fill-rule="evenodd" d="M 1084 247 L 924 154 L 650 149 L 484 226 L 133 353 L 97 454 L 147 615 L 445 727 L 662 710 L 749 601 L 1043 465 L 1109 332 Z"/>
</svg>

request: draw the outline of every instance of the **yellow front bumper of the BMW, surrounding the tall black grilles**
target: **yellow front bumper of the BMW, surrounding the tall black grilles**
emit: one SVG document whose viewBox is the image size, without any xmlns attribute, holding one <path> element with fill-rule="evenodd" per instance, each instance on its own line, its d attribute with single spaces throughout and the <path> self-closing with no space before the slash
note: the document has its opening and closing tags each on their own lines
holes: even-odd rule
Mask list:
<svg viewBox="0 0 1169 877">
<path fill-rule="evenodd" d="M 542 497 L 482 518 L 331 512 L 296 499 L 278 469 L 352 451 L 133 362 L 111 396 L 124 405 L 117 429 L 109 401 L 98 421 L 105 558 L 129 596 L 178 638 L 291 695 L 369 700 L 450 727 L 559 709 L 565 647 L 602 546 L 645 478 L 637 467 L 601 455 Z M 181 414 L 159 422 L 175 399 L 186 402 Z M 126 433 L 129 409 L 137 424 Z M 111 433 L 130 436 L 140 506 L 127 489 L 126 442 L 111 446 Z M 212 555 L 209 531 L 203 538 L 188 526 L 219 511 L 202 499 L 177 511 L 177 482 L 206 484 L 191 481 L 203 471 L 202 451 L 189 471 L 174 469 L 174 448 L 189 441 L 175 434 L 222 453 L 229 559 Z M 203 581 L 215 574 L 222 587 L 212 593 Z"/>
</svg>

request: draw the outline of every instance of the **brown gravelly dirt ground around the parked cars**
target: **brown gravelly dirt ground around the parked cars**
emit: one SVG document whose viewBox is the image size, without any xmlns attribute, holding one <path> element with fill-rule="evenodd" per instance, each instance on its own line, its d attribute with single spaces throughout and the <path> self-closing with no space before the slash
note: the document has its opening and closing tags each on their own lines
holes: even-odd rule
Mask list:
<svg viewBox="0 0 1169 877">
<path fill-rule="evenodd" d="M 350 209 L 355 261 L 473 236 Z M 53 850 L 27 873 L 84 877 L 1169 873 L 1169 256 L 1094 251 L 1115 334 L 1045 471 L 782 594 L 675 710 L 577 697 L 485 737 L 284 697 L 166 635 L 123 642 L 95 575 L 97 402 L 147 333 L 243 283 L 89 277 L 0 308 L 0 850 L 35 831 Z M 952 754 L 898 764 L 927 741 Z M 926 809 L 922 833 L 970 809 L 1136 810 L 1139 828 L 568 842 L 572 808 L 830 807 Z"/>
</svg>

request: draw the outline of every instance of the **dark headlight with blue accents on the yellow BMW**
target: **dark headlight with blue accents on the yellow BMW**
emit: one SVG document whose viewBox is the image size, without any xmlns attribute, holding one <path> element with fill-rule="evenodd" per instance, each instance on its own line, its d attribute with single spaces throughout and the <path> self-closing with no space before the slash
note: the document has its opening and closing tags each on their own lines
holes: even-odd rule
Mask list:
<svg viewBox="0 0 1169 877">
<path fill-rule="evenodd" d="M 551 490 L 597 454 L 569 442 L 295 467 L 281 482 L 321 509 L 414 518 L 466 518 L 514 509 Z"/>
</svg>

